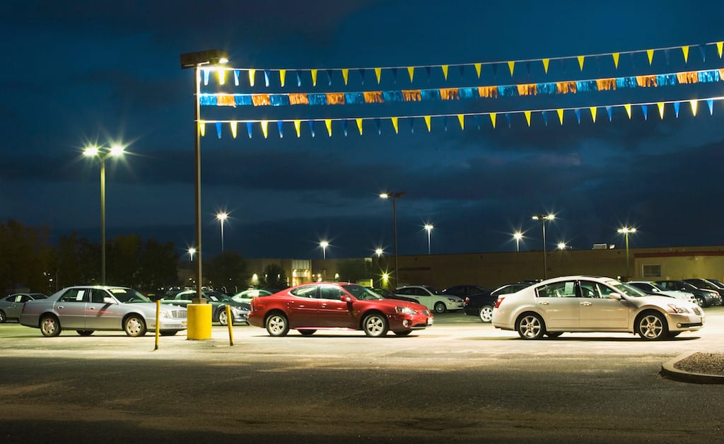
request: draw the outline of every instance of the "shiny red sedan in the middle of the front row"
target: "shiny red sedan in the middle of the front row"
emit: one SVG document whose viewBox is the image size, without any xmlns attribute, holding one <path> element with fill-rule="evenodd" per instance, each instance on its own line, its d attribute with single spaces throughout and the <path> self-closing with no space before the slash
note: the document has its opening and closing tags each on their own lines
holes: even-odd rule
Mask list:
<svg viewBox="0 0 724 444">
<path fill-rule="evenodd" d="M 432 314 L 424 305 L 384 299 L 361 285 L 313 282 L 253 298 L 249 324 L 265 327 L 271 336 L 284 336 L 290 329 L 311 335 L 340 328 L 373 337 L 388 330 L 407 336 L 432 325 Z"/>
</svg>

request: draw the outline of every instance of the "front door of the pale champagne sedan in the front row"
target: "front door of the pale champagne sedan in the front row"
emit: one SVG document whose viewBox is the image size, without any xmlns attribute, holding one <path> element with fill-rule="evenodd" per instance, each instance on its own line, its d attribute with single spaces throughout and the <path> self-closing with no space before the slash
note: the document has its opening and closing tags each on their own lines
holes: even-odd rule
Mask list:
<svg viewBox="0 0 724 444">
<path fill-rule="evenodd" d="M 629 306 L 624 300 L 611 298 L 617 293 L 613 288 L 600 282 L 581 280 L 581 321 L 582 329 L 626 330 L 628 328 Z"/>
</svg>

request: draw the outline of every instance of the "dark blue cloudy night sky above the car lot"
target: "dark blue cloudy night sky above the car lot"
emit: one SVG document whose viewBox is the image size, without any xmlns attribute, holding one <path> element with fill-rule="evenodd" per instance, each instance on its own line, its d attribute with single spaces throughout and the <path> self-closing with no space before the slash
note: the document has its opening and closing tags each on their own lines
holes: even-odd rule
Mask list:
<svg viewBox="0 0 724 444">
<path fill-rule="evenodd" d="M 54 238 L 76 231 L 100 239 L 98 162 L 81 155 L 88 143 L 127 146 L 106 161 L 108 237 L 137 234 L 173 241 L 179 254 L 194 243 L 194 79 L 182 53 L 223 49 L 230 67 L 259 70 L 237 93 L 325 93 L 517 85 L 667 74 L 724 67 L 715 46 L 724 39 L 724 4 L 712 1 L 4 1 L 0 6 L 3 100 L 0 102 L 0 220 L 49 227 Z M 684 62 L 681 46 L 691 45 Z M 656 51 L 652 63 L 647 49 Z M 629 54 L 631 51 L 635 54 Z M 610 56 L 621 53 L 618 68 Z M 550 70 L 541 59 L 551 59 Z M 515 65 L 508 61 L 532 60 Z M 536 62 L 538 61 L 538 62 Z M 494 65 L 493 62 L 500 62 Z M 474 63 L 482 63 L 476 78 Z M 447 79 L 440 65 L 449 64 Z M 466 64 L 462 72 L 456 65 Z M 455 65 L 455 67 L 453 67 Z M 415 71 L 413 83 L 405 67 Z M 496 70 L 493 70 L 496 66 Z M 358 68 L 400 67 L 395 78 Z M 349 83 L 340 69 L 350 69 Z M 289 70 L 264 85 L 264 70 Z M 317 85 L 309 78 L 319 70 Z M 297 85 L 299 70 L 302 85 Z M 329 84 L 327 70 L 333 70 Z M 275 71 L 272 71 L 275 72 Z M 227 79 L 228 80 L 228 79 Z M 213 83 L 213 82 L 211 82 Z M 211 84 L 210 83 L 210 84 Z M 244 87 L 247 88 L 244 88 Z M 689 100 L 724 96 L 724 82 L 349 106 L 202 107 L 202 119 L 271 120 L 249 138 L 207 125 L 201 139 L 203 254 L 221 251 L 219 222 L 228 211 L 224 248 L 245 257 L 328 258 L 392 253 L 397 200 L 400 254 L 426 254 L 423 225 L 434 225 L 432 253 L 541 249 L 531 215 L 552 212 L 547 248 L 594 243 L 623 246 L 616 230 L 638 232 L 632 247 L 723 245 L 721 220 L 724 101 L 713 111 Z M 666 102 L 644 119 L 618 104 Z M 681 101 L 678 117 L 671 101 Z M 592 121 L 589 107 L 598 106 Z M 613 106 L 609 120 L 605 106 Z M 213 108 L 213 109 L 211 109 Z M 533 112 L 555 112 L 545 125 Z M 573 108 L 581 109 L 578 123 Z M 497 113 L 497 125 L 486 113 Z M 510 114 L 510 125 L 505 112 Z M 460 129 L 456 114 L 473 117 Z M 411 127 L 403 117 L 421 117 Z M 395 134 L 389 118 L 400 117 Z M 360 135 L 355 117 L 369 118 Z M 350 118 L 348 135 L 332 136 L 307 120 Z M 374 119 L 381 118 L 378 128 Z M 279 137 L 276 120 L 291 122 Z M 207 256 L 208 257 L 208 256 Z"/>
</svg>

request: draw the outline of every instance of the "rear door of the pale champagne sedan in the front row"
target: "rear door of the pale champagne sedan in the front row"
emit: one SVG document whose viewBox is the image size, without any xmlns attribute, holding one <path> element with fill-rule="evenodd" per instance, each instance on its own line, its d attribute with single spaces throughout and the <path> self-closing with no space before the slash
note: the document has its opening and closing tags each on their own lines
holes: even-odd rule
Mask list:
<svg viewBox="0 0 724 444">
<path fill-rule="evenodd" d="M 576 281 L 552 282 L 536 288 L 536 309 L 550 329 L 576 329 L 581 298 Z"/>
</svg>

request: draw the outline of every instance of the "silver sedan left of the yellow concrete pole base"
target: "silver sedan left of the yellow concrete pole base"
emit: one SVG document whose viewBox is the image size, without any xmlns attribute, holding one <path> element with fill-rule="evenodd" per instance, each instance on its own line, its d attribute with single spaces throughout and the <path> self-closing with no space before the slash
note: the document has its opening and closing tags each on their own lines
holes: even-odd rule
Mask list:
<svg viewBox="0 0 724 444">
<path fill-rule="evenodd" d="M 161 335 L 175 335 L 186 329 L 186 309 L 161 306 Z M 125 287 L 75 286 L 64 288 L 46 299 L 28 301 L 20 324 L 40 328 L 43 336 L 57 336 L 75 330 L 87 336 L 96 330 L 125 331 L 143 336 L 156 329 L 156 303 L 142 293 Z"/>
</svg>

